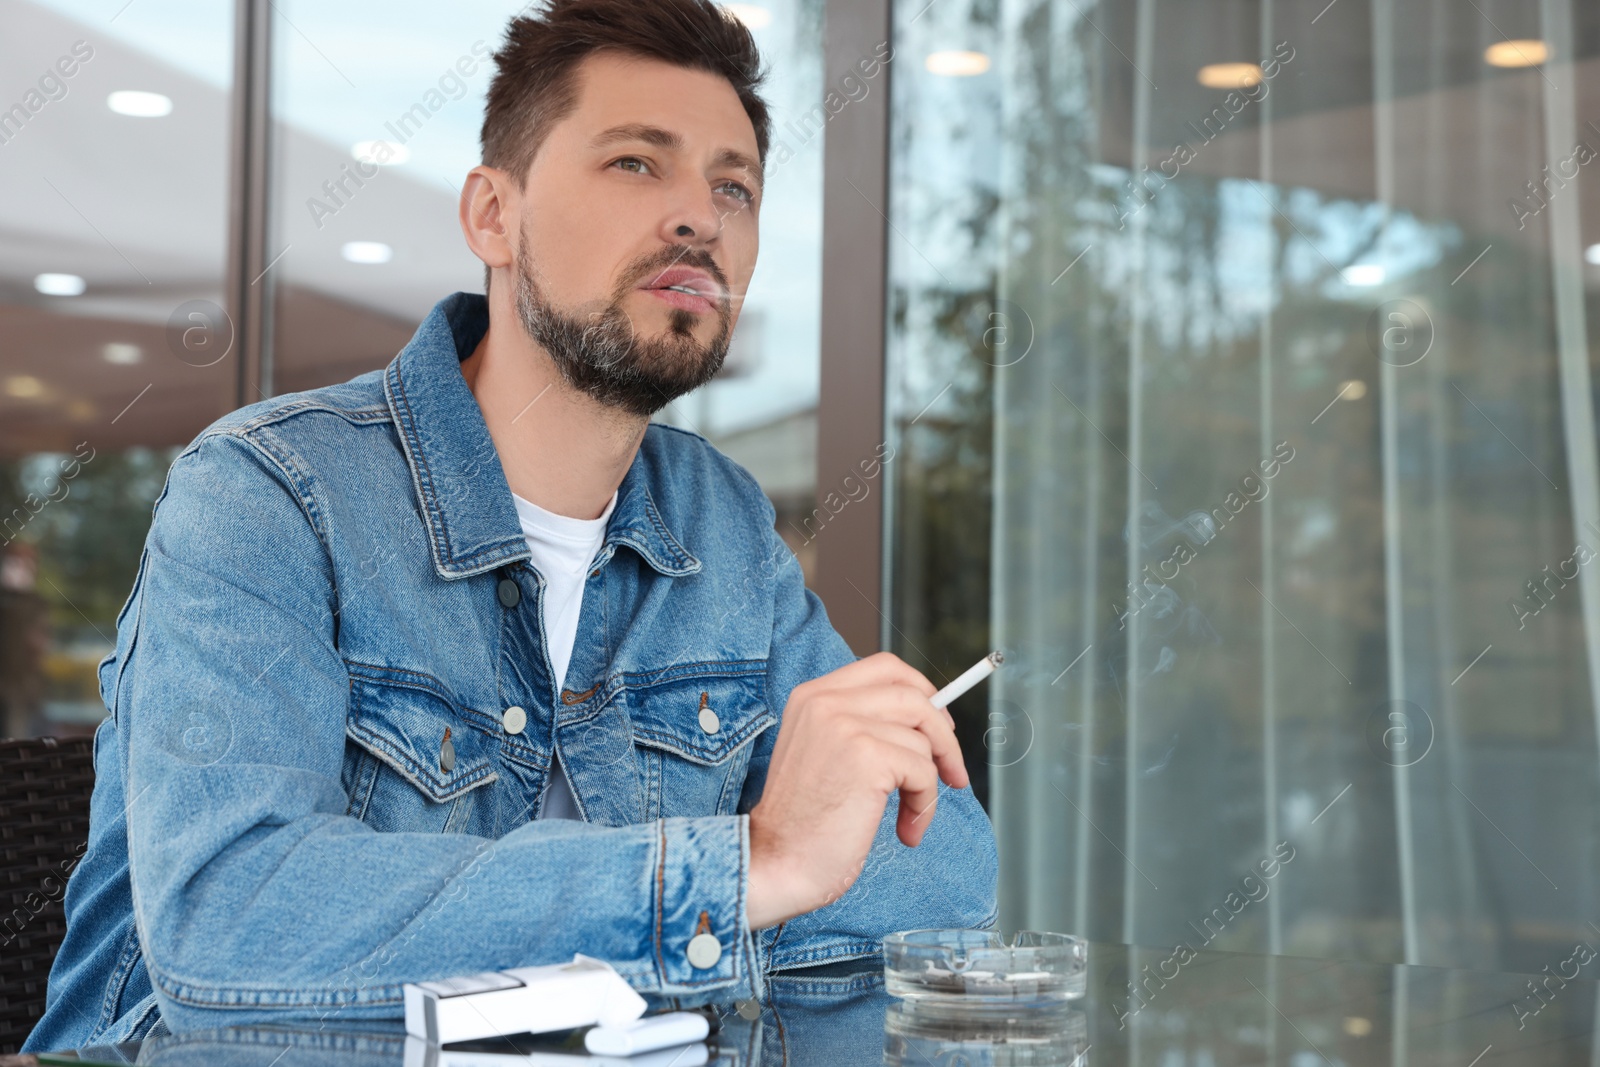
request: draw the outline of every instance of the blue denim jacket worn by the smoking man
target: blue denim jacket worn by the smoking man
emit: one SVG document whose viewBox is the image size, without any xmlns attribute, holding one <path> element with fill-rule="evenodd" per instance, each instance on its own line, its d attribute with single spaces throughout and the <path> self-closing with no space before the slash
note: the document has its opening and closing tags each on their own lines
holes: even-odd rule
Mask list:
<svg viewBox="0 0 1600 1067">
<path fill-rule="evenodd" d="M 885 933 L 994 921 L 989 821 L 942 789 L 918 848 L 891 801 L 843 897 L 750 931 L 779 717 L 854 656 L 750 475 L 651 424 L 557 693 L 459 371 L 486 328 L 450 296 L 384 371 L 235 411 L 173 464 L 101 664 L 90 848 L 27 1049 L 395 1017 L 402 982 L 574 952 L 661 1003 L 763 998 Z M 536 821 L 554 753 L 582 822 Z"/>
</svg>

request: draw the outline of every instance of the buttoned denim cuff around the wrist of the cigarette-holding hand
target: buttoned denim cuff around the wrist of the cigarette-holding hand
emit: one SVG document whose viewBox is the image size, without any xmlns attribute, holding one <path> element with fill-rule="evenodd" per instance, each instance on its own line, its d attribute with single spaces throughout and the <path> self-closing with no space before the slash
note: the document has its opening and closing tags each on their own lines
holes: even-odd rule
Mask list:
<svg viewBox="0 0 1600 1067">
<path fill-rule="evenodd" d="M 664 995 L 755 995 L 760 963 L 746 912 L 749 817 L 662 819 L 656 966 Z"/>
</svg>

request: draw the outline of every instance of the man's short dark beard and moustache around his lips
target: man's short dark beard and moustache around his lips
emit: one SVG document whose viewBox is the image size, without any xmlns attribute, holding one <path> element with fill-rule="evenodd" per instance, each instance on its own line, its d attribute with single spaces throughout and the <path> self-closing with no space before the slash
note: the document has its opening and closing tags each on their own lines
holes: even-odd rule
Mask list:
<svg viewBox="0 0 1600 1067">
<path fill-rule="evenodd" d="M 578 314 L 566 314 L 541 293 L 526 250 L 525 238 L 517 248 L 517 318 L 528 338 L 550 354 L 555 370 L 573 389 L 606 406 L 650 418 L 722 370 L 731 334 L 726 296 L 717 301 L 717 336 L 707 344 L 694 338 L 699 318 L 694 312 L 674 307 L 662 336 L 642 338 L 622 309 L 622 299 L 642 278 L 675 264 L 706 270 L 726 293 L 726 280 L 709 253 L 662 248 L 640 256 L 622 272 L 610 302 L 597 301 Z"/>
</svg>

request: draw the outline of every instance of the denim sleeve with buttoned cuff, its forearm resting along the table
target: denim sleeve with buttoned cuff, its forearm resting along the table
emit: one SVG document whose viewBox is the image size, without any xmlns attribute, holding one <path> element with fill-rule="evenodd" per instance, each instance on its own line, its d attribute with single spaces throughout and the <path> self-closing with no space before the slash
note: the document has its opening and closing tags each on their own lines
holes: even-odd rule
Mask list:
<svg viewBox="0 0 1600 1067">
<path fill-rule="evenodd" d="M 291 456 L 234 435 L 186 453 L 157 507 L 110 702 L 168 1027 L 397 1017 L 402 982 L 574 952 L 642 993 L 760 997 L 742 814 L 536 821 L 496 840 L 346 814 L 322 514 Z M 707 968 L 686 957 L 701 925 L 722 944 Z"/>
</svg>

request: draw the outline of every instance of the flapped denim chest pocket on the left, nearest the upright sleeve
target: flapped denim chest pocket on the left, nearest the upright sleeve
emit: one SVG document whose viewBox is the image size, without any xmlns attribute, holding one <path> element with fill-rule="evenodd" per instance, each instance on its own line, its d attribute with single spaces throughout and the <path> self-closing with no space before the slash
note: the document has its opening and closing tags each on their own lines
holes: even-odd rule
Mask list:
<svg viewBox="0 0 1600 1067">
<path fill-rule="evenodd" d="M 349 669 L 347 814 L 382 832 L 483 832 L 494 741 L 427 675 Z"/>
</svg>

